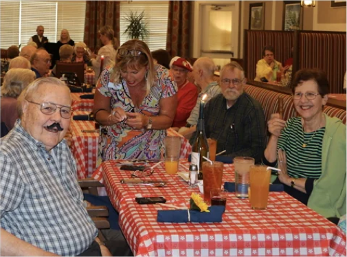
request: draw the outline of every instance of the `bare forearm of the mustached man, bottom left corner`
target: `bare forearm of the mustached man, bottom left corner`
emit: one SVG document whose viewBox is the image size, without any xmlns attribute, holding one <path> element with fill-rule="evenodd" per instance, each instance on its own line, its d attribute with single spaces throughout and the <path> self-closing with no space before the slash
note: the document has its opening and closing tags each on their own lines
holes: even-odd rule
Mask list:
<svg viewBox="0 0 347 257">
<path fill-rule="evenodd" d="M 58 256 L 27 243 L 1 228 L 1 256 Z"/>
</svg>

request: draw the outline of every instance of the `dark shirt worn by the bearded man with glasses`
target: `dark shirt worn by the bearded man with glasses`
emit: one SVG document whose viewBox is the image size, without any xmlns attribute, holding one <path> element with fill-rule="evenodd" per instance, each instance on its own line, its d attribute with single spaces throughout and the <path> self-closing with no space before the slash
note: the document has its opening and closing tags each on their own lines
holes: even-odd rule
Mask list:
<svg viewBox="0 0 347 257">
<path fill-rule="evenodd" d="M 217 139 L 216 153 L 253 157 L 259 163 L 265 149 L 265 116 L 259 102 L 243 93 L 227 109 L 223 94 L 215 96 L 205 105 L 206 137 Z"/>
</svg>

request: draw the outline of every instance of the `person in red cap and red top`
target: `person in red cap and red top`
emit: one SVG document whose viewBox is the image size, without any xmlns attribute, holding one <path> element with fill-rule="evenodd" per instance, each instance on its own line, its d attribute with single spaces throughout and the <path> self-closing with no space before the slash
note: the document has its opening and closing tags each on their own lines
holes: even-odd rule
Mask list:
<svg viewBox="0 0 347 257">
<path fill-rule="evenodd" d="M 192 82 L 187 80 L 188 72 L 192 71 L 192 65 L 186 59 L 179 56 L 172 58 L 170 70 L 179 89 L 176 115 L 172 122 L 172 127 L 178 131 L 181 126 L 186 126 L 190 112 L 197 103 L 198 90 Z"/>
</svg>

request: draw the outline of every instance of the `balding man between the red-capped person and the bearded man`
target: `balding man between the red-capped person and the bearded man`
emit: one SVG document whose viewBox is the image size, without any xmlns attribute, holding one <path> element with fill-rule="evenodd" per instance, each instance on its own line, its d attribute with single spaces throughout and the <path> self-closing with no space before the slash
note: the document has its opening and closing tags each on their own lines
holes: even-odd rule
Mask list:
<svg viewBox="0 0 347 257">
<path fill-rule="evenodd" d="M 192 75 L 195 84 L 200 89 L 200 93 L 198 94 L 197 103 L 187 119 L 186 126 L 182 126 L 178 131 L 186 139 L 190 139 L 194 131 L 197 130 L 200 102 L 203 95 L 206 94 L 205 102 L 208 102 L 211 98 L 221 93 L 221 87 L 219 87 L 218 82 L 213 80 L 214 68 L 214 62 L 209 57 L 200 57 L 194 62 Z"/>
</svg>

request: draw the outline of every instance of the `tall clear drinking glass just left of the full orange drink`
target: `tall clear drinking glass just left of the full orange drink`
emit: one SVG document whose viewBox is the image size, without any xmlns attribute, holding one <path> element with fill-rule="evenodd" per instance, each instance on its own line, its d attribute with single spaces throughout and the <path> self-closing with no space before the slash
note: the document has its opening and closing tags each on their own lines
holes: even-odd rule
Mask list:
<svg viewBox="0 0 347 257">
<path fill-rule="evenodd" d="M 248 197 L 249 188 L 249 167 L 254 165 L 254 158 L 235 157 L 235 193 L 238 198 Z"/>
</svg>

